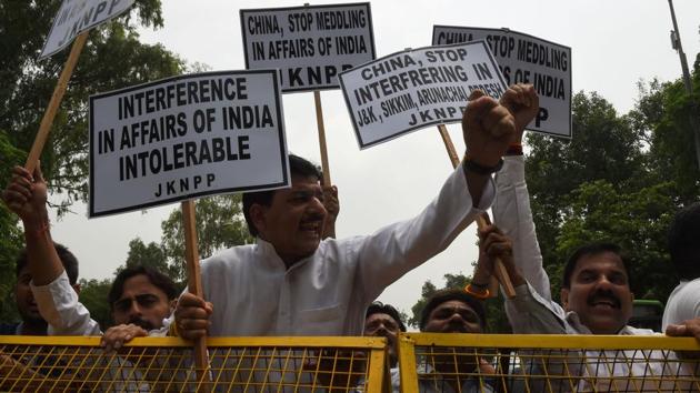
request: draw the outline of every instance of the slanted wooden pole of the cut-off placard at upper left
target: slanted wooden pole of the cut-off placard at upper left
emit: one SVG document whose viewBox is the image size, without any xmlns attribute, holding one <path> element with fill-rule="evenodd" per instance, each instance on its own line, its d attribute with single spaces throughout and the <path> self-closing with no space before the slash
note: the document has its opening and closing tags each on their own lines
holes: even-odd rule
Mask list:
<svg viewBox="0 0 700 393">
<path fill-rule="evenodd" d="M 66 89 L 68 88 L 68 81 L 70 80 L 70 75 L 73 73 L 76 64 L 78 63 L 78 58 L 80 57 L 82 47 L 84 47 L 86 41 L 88 40 L 88 33 L 89 31 L 81 32 L 76 38 L 76 41 L 73 41 L 68 60 L 66 60 L 61 75 L 53 89 L 49 107 L 47 108 L 47 111 L 43 112 L 43 118 L 41 119 L 41 124 L 39 125 L 39 132 L 37 132 L 37 138 L 34 138 L 34 143 L 32 144 L 29 157 L 27 157 L 27 162 L 24 163 L 24 168 L 29 171 L 29 173 L 33 173 L 37 168 L 37 162 L 41 157 L 43 145 L 49 138 L 49 132 L 51 132 L 51 125 L 53 124 L 56 112 L 58 111 L 61 100 L 63 99 L 63 94 L 66 93 Z"/>
</svg>

